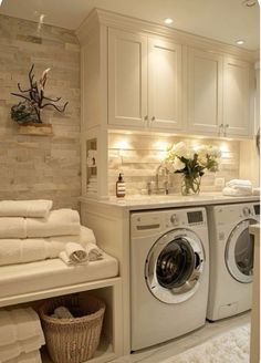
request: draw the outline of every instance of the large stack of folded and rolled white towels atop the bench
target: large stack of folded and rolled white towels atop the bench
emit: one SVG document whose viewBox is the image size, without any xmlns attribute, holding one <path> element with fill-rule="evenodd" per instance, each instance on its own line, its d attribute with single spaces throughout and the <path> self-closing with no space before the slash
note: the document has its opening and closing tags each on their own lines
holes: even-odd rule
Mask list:
<svg viewBox="0 0 261 363">
<path fill-rule="evenodd" d="M 0 201 L 0 266 L 60 257 L 80 263 L 103 253 L 76 210 L 51 210 L 52 200 Z M 61 253 L 64 252 L 64 253 Z"/>
</svg>

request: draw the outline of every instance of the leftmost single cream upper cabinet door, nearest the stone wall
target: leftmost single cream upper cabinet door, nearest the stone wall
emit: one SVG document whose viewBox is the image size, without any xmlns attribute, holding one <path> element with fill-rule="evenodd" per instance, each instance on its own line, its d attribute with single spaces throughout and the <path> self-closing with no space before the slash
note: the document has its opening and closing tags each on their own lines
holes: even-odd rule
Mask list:
<svg viewBox="0 0 261 363">
<path fill-rule="evenodd" d="M 147 124 L 147 38 L 108 30 L 108 124 Z"/>
</svg>

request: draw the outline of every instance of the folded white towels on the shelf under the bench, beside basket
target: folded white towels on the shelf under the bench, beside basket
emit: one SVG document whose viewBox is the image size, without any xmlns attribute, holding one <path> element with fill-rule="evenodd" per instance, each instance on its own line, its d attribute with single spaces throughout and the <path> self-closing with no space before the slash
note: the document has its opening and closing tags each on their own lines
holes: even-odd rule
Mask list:
<svg viewBox="0 0 261 363">
<path fill-rule="evenodd" d="M 32 308 L 0 310 L 0 363 L 41 363 L 40 348 L 44 344 Z"/>
</svg>

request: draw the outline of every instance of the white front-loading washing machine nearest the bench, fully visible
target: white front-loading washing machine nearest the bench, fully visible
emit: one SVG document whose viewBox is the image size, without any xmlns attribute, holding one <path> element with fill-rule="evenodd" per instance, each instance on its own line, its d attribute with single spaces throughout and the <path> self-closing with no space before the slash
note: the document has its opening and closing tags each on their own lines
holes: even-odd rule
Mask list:
<svg viewBox="0 0 261 363">
<path fill-rule="evenodd" d="M 205 208 L 130 216 L 130 346 L 147 348 L 206 321 L 209 281 Z"/>
</svg>

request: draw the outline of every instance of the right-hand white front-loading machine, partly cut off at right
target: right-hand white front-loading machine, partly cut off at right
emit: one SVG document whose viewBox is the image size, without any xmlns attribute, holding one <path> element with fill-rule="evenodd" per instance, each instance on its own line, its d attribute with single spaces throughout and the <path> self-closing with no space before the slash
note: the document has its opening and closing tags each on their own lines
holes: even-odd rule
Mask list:
<svg viewBox="0 0 261 363">
<path fill-rule="evenodd" d="M 207 207 L 210 281 L 207 319 L 216 321 L 251 309 L 253 239 L 259 203 Z"/>
</svg>

